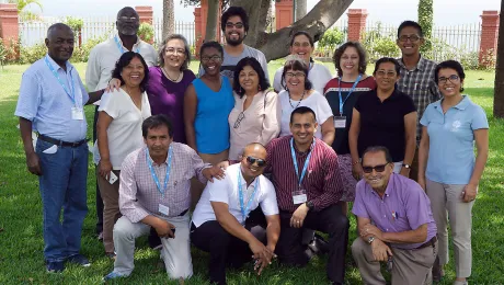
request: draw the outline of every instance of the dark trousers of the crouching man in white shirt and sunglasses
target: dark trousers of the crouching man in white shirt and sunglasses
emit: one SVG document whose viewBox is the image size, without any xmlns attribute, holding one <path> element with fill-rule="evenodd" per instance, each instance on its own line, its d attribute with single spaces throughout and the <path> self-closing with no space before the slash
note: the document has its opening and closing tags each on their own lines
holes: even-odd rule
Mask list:
<svg viewBox="0 0 504 285">
<path fill-rule="evenodd" d="M 259 210 L 257 210 L 259 209 Z M 266 241 L 266 219 L 260 208 L 245 220 L 245 228 L 261 242 Z M 191 242 L 210 253 L 208 275 L 210 283 L 226 284 L 226 266 L 241 267 L 252 260 L 252 251 L 243 240 L 227 232 L 217 220 L 210 220 L 196 228 L 191 225 Z"/>
</svg>

